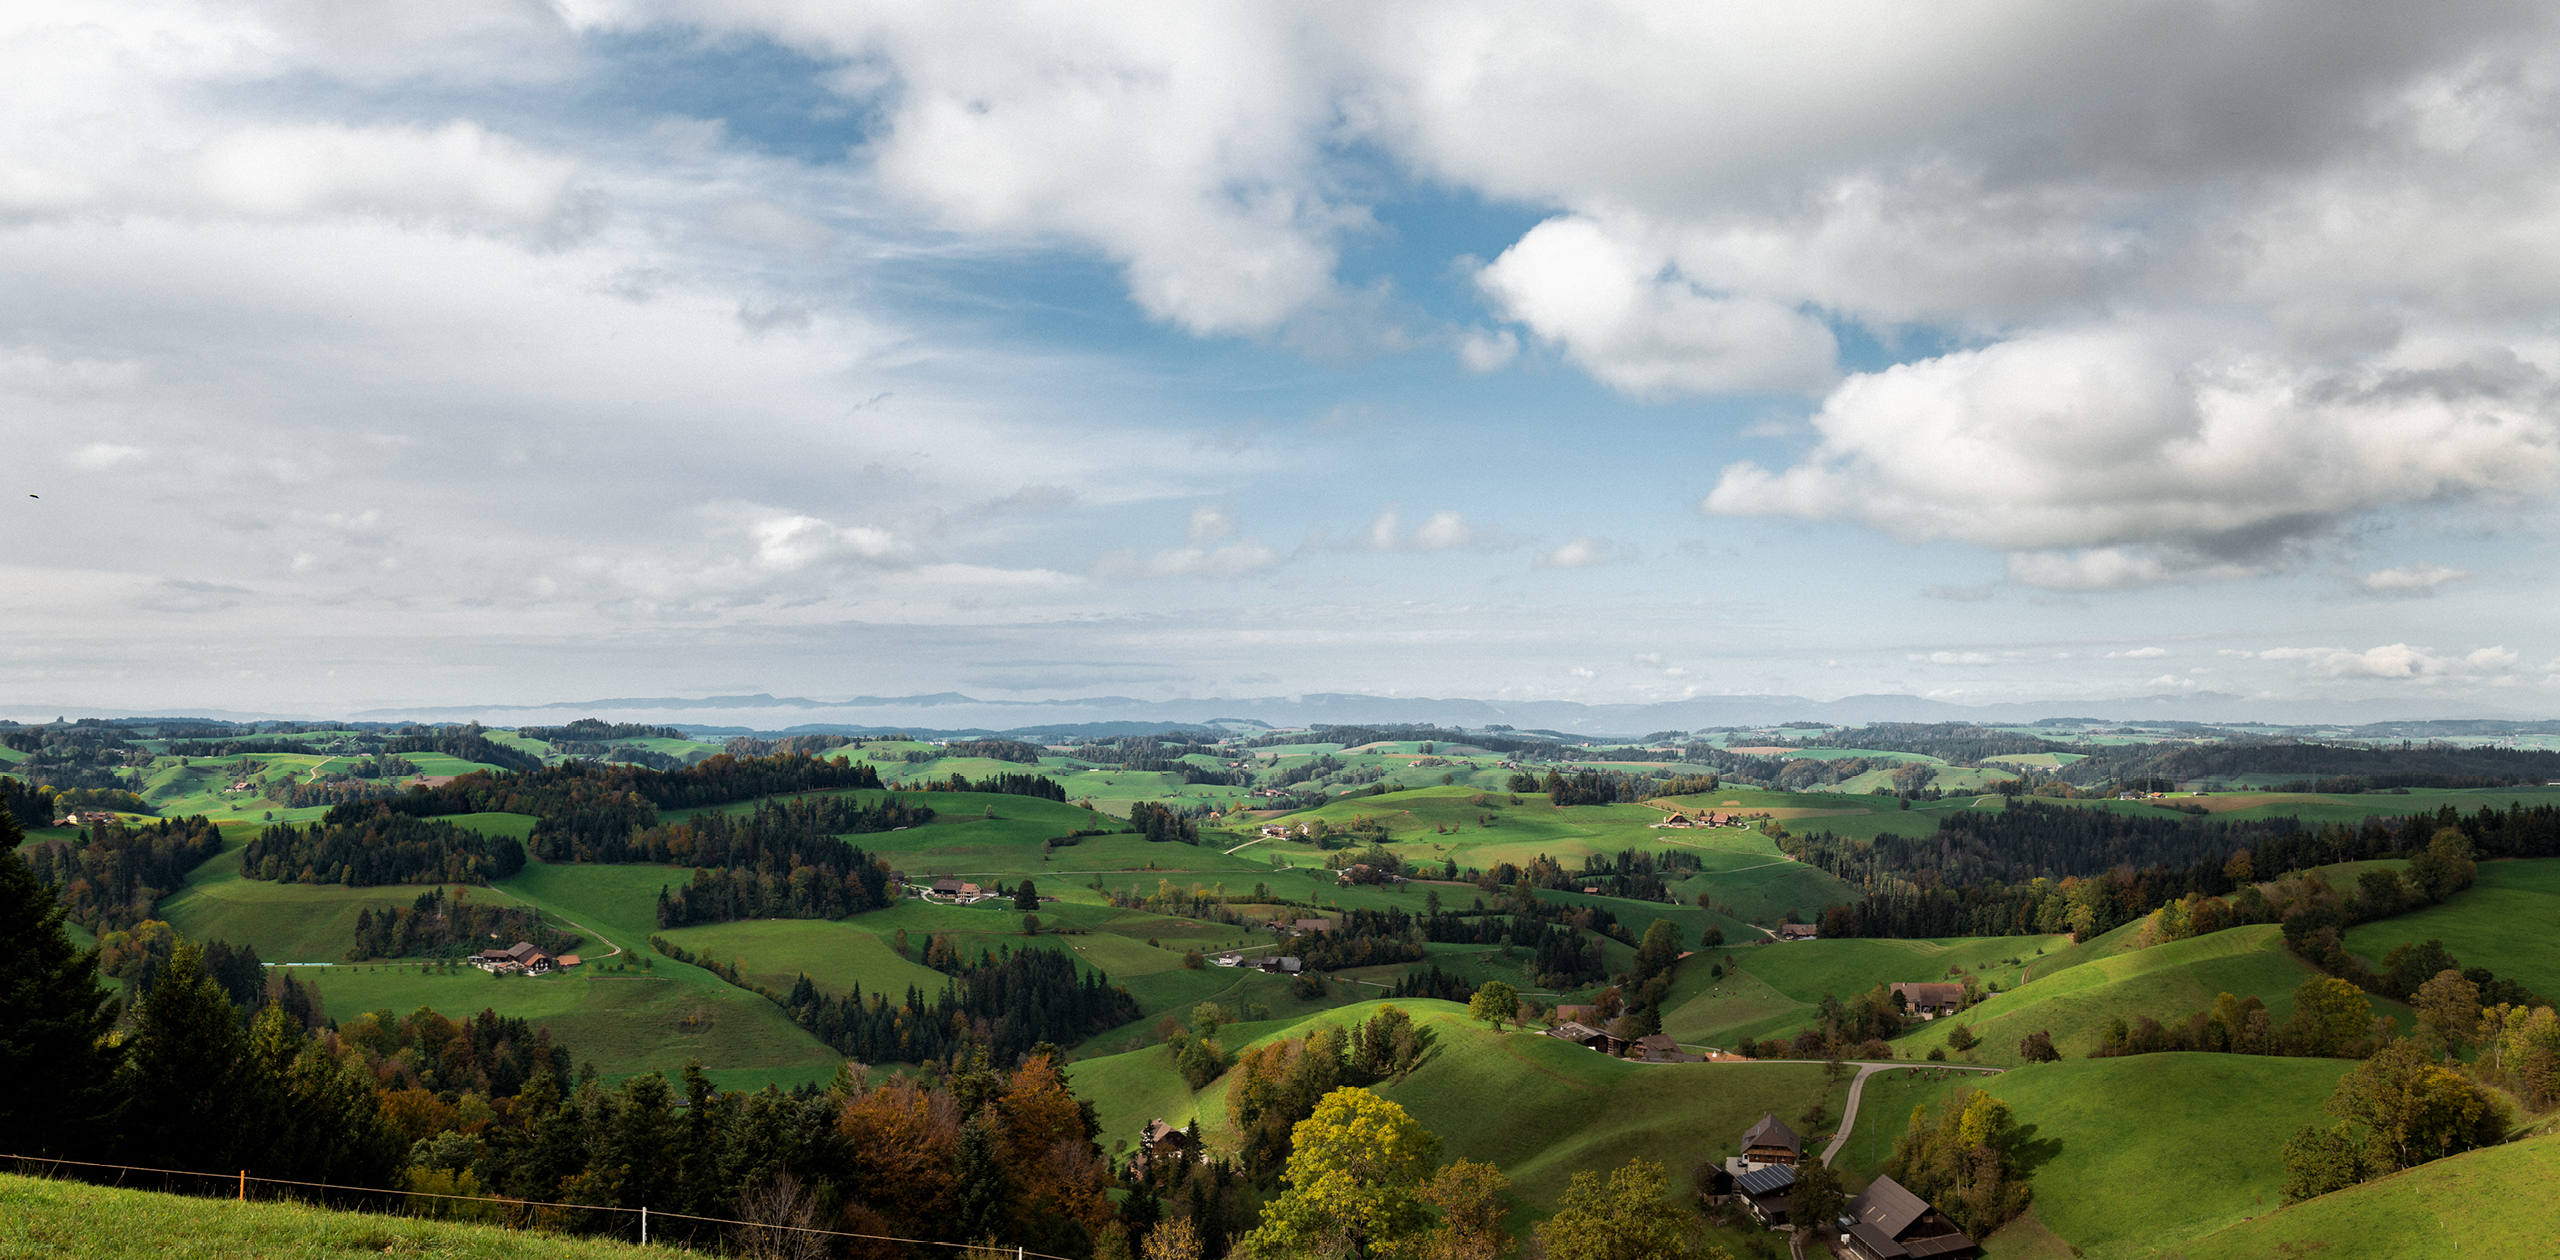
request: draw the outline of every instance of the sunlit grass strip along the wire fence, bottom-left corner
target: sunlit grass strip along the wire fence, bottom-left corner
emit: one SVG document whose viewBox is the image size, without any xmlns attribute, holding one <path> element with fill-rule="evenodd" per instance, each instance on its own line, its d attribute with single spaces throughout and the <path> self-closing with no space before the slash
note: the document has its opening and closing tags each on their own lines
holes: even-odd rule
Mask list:
<svg viewBox="0 0 2560 1260">
<path fill-rule="evenodd" d="M 492 1224 L 420 1222 L 300 1204 L 236 1204 L 0 1173 L 0 1255 L 82 1260 L 238 1260 L 248 1255 L 433 1255 L 440 1260 L 622 1260 L 604 1240 Z"/>
</svg>

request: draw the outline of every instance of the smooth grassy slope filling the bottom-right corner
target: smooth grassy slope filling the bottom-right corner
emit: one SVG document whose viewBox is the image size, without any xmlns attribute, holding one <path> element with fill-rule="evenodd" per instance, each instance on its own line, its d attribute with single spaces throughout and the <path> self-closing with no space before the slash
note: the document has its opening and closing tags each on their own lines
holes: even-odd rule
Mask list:
<svg viewBox="0 0 2560 1260">
<path fill-rule="evenodd" d="M 2552 1255 L 2560 1240 L 2560 1135 L 2473 1150 L 2258 1214 L 2163 1252 L 2176 1260 L 2399 1260 L 2409 1255 Z"/>
</svg>

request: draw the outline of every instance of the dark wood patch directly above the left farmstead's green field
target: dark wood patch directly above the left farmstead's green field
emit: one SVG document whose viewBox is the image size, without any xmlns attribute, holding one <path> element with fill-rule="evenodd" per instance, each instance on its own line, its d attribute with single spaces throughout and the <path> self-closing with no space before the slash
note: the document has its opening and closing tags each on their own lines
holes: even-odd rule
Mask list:
<svg viewBox="0 0 2560 1260">
<path fill-rule="evenodd" d="M 241 876 L 282 884 L 492 884 L 525 868 L 525 845 L 443 820 L 338 807 L 320 822 L 266 827 L 241 848 Z"/>
</svg>

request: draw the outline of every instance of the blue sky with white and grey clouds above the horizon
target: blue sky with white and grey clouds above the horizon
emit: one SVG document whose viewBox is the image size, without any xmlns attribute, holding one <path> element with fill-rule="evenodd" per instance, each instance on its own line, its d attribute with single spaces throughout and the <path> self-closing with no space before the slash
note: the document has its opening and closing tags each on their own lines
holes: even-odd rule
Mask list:
<svg viewBox="0 0 2560 1260">
<path fill-rule="evenodd" d="M 2560 715 L 2542 3 L 0 15 L 0 699 Z"/>
</svg>

